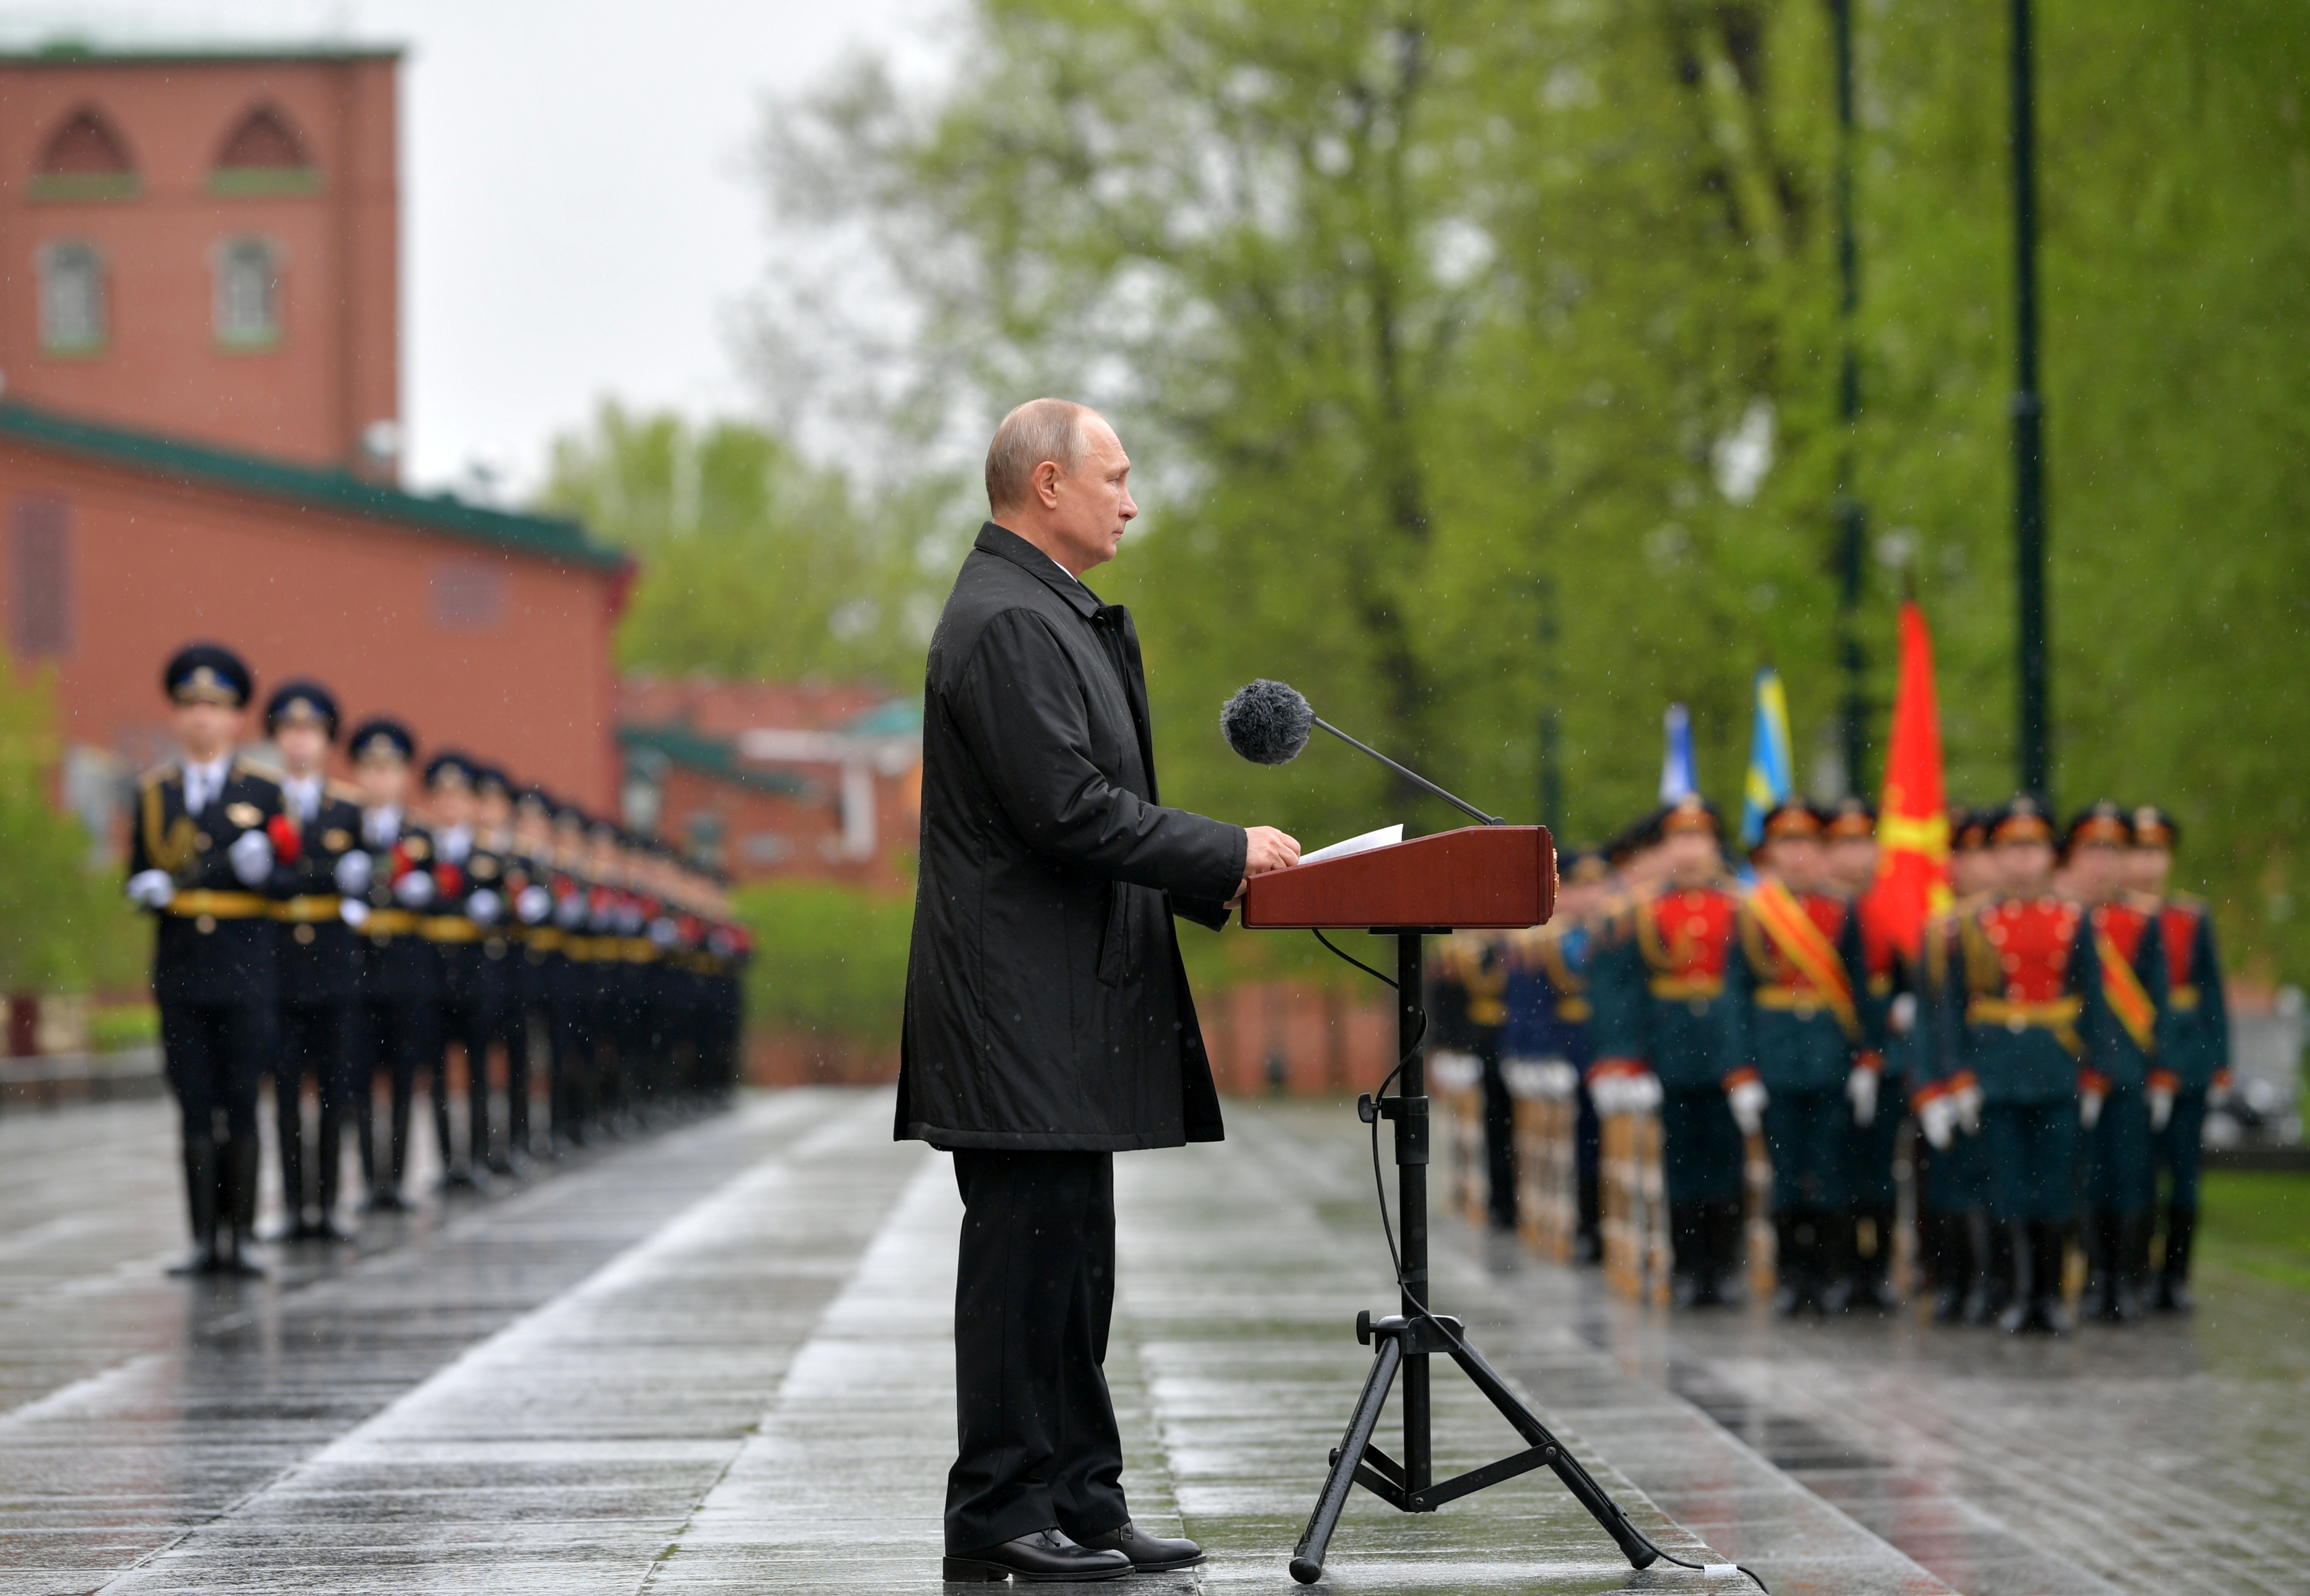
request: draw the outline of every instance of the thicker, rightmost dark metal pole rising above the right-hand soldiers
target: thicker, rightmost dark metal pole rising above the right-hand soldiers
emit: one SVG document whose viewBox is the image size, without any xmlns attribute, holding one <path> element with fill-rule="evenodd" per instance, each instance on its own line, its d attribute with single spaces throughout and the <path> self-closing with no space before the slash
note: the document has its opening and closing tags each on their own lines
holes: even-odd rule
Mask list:
<svg viewBox="0 0 2310 1596">
<path fill-rule="evenodd" d="M 2014 778 L 2021 792 L 2051 797 L 2044 665 L 2044 400 L 2037 393 L 2037 111 L 2030 74 L 2028 0 L 2012 0 L 2014 598 L 2021 610 L 2017 617 L 2021 721 L 2014 728 Z"/>
</svg>

